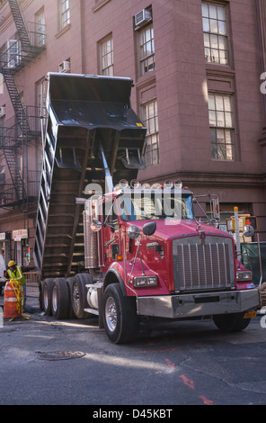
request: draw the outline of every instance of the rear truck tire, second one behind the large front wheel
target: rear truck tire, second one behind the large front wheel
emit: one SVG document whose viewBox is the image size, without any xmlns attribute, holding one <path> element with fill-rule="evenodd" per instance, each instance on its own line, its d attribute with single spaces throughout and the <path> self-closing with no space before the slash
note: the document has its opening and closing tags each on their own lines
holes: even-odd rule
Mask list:
<svg viewBox="0 0 266 423">
<path fill-rule="evenodd" d="M 57 277 L 52 286 L 52 315 L 57 320 L 67 319 L 70 302 L 67 281 L 63 277 Z"/>
</svg>

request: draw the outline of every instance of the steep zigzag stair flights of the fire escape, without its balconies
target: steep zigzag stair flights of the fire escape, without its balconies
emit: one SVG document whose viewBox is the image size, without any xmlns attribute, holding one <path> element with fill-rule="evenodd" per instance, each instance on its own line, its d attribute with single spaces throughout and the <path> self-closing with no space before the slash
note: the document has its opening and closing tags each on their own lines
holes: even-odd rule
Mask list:
<svg viewBox="0 0 266 423">
<path fill-rule="evenodd" d="M 14 58 L 12 66 L 8 62 L 7 52 L 5 51 L 1 54 L 0 73 L 4 76 L 4 83 L 13 105 L 16 120 L 21 129 L 21 139 L 20 142 L 17 142 L 18 139 L 13 139 L 13 144 L 10 144 L 9 141 L 6 142 L 3 139 L 1 149 L 4 152 L 4 158 L 9 169 L 13 188 L 16 194 L 16 201 L 20 202 L 26 199 L 27 193 L 17 164 L 15 150 L 17 146 L 22 145 L 23 141 L 34 138 L 34 135 L 36 136 L 36 134 L 34 132 L 31 133 L 28 116 L 23 107 L 22 100 L 15 83 L 14 74 L 30 63 L 33 58 L 36 58 L 41 51 L 45 49 L 45 47 L 38 47 L 31 44 L 29 33 L 23 22 L 17 0 L 9 0 L 8 3 L 13 15 L 13 21 L 15 23 L 19 41 L 21 43 L 21 51 L 18 56 Z"/>
</svg>

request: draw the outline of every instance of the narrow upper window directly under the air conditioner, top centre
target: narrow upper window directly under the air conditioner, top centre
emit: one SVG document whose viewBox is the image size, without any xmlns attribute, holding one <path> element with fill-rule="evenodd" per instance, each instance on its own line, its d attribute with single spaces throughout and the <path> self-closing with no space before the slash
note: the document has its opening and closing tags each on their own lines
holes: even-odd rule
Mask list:
<svg viewBox="0 0 266 423">
<path fill-rule="evenodd" d="M 139 75 L 155 69 L 155 38 L 153 23 L 137 31 L 139 46 Z"/>
</svg>

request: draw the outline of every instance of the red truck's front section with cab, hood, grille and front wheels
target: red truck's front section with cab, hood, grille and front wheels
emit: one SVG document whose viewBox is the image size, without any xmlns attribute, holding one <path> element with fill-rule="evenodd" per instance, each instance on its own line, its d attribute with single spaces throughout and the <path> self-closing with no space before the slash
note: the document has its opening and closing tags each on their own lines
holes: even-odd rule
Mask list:
<svg viewBox="0 0 266 423">
<path fill-rule="evenodd" d="M 129 189 L 123 182 L 88 203 L 85 214 L 93 210 L 93 215 L 86 224 L 95 236 L 90 255 L 99 254 L 103 323 L 111 340 L 134 337 L 141 317 L 212 316 L 223 330 L 248 325 L 246 311 L 258 303 L 252 274 L 236 262 L 229 234 L 195 219 L 188 188 L 144 184 Z M 135 329 L 126 325 L 122 335 L 123 302 Z"/>
</svg>

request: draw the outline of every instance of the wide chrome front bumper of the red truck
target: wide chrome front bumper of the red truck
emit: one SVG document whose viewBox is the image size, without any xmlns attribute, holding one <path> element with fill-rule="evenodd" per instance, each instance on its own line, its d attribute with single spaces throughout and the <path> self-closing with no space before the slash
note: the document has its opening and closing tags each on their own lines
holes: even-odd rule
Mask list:
<svg viewBox="0 0 266 423">
<path fill-rule="evenodd" d="M 190 293 L 137 298 L 137 314 L 167 319 L 188 319 L 240 313 L 260 304 L 257 289 L 218 293 Z"/>
</svg>

